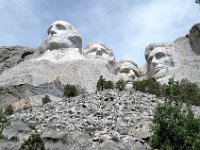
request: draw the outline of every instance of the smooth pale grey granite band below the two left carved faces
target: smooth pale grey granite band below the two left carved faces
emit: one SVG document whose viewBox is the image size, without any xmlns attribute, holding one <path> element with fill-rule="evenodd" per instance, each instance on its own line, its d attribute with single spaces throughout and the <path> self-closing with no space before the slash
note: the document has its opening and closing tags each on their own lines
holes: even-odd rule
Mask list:
<svg viewBox="0 0 200 150">
<path fill-rule="evenodd" d="M 101 61 L 75 60 L 68 63 L 49 61 L 29 61 L 4 71 L 0 75 L 0 86 L 30 84 L 39 86 L 45 83 L 60 81 L 63 85 L 80 85 L 87 92 L 95 92 L 96 83 L 101 75 L 114 80 L 107 67 Z"/>
</svg>

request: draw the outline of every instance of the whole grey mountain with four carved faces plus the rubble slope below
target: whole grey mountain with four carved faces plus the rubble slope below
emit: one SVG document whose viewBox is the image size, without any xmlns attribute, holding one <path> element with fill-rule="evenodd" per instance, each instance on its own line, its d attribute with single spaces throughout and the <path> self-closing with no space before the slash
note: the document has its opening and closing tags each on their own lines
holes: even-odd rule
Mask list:
<svg viewBox="0 0 200 150">
<path fill-rule="evenodd" d="M 82 48 L 80 34 L 68 22 L 54 22 L 47 33 L 37 49 L 0 47 L 0 108 L 12 104 L 15 112 L 8 116 L 11 124 L 2 132 L 0 149 L 18 149 L 39 133 L 50 150 L 150 150 L 153 109 L 164 98 L 139 91 L 96 92 L 99 77 L 123 79 L 127 90 L 133 81 L 150 78 L 160 83 L 187 78 L 200 86 L 200 24 L 173 43 L 148 45 L 143 66 L 116 61 L 104 44 Z M 81 94 L 63 97 L 67 84 Z M 42 104 L 46 95 L 51 102 Z M 199 107 L 193 109 L 200 116 Z"/>
</svg>

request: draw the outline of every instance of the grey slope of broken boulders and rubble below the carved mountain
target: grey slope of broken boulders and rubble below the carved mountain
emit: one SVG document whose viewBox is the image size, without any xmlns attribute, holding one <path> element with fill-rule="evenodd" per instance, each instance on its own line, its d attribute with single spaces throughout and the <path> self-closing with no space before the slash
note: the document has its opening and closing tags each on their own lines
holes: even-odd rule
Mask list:
<svg viewBox="0 0 200 150">
<path fill-rule="evenodd" d="M 41 99 L 40 99 L 41 100 Z M 49 150 L 146 150 L 153 109 L 163 98 L 115 90 L 52 99 L 9 116 L 0 149 L 17 150 L 38 132 Z M 200 116 L 198 107 L 193 108 Z"/>
</svg>

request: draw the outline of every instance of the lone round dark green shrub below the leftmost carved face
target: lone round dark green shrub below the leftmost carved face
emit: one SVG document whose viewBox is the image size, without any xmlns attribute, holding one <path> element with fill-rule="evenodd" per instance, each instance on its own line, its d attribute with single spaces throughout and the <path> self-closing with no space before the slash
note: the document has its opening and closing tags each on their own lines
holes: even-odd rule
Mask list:
<svg viewBox="0 0 200 150">
<path fill-rule="evenodd" d="M 78 91 L 74 85 L 67 84 L 64 88 L 63 96 L 74 97 L 78 95 Z"/>
</svg>

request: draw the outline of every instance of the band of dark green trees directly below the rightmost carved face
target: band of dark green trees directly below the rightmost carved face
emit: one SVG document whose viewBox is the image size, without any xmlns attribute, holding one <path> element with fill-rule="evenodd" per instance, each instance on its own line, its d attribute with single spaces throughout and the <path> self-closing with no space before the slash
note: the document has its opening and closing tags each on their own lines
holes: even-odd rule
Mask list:
<svg viewBox="0 0 200 150">
<path fill-rule="evenodd" d="M 170 79 L 172 80 L 172 79 Z M 183 79 L 180 82 L 174 81 L 173 91 L 176 93 L 176 99 L 191 105 L 200 105 L 200 89 L 195 83 Z M 141 92 L 155 94 L 156 96 L 167 96 L 166 85 L 161 85 L 156 79 L 134 81 L 133 88 Z"/>
</svg>

